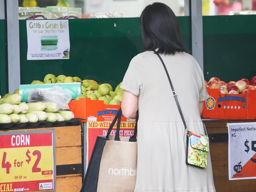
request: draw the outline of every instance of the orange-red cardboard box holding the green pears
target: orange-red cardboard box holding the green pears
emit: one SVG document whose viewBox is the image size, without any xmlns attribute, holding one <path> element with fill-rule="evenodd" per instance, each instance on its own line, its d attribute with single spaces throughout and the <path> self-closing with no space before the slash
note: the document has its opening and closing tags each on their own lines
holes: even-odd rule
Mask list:
<svg viewBox="0 0 256 192">
<path fill-rule="evenodd" d="M 85 121 L 112 121 L 120 109 L 121 104 L 104 104 L 101 100 L 91 100 L 90 98 L 80 98 L 69 103 L 70 110 L 75 118 L 83 118 Z M 135 121 L 122 116 L 121 121 Z"/>
</svg>

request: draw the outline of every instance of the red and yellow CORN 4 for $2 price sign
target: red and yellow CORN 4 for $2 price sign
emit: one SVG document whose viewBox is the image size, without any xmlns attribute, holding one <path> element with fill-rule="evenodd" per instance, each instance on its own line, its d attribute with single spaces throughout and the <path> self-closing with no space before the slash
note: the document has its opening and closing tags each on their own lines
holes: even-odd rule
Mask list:
<svg viewBox="0 0 256 192">
<path fill-rule="evenodd" d="M 55 191 L 55 130 L 0 132 L 0 192 Z"/>
</svg>

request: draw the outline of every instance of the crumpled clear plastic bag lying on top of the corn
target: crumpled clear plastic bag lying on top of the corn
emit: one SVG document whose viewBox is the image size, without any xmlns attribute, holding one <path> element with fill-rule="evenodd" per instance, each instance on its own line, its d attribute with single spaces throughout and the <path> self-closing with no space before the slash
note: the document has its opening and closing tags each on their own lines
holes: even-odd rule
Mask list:
<svg viewBox="0 0 256 192">
<path fill-rule="evenodd" d="M 31 89 L 28 93 L 28 103 L 32 102 L 54 102 L 58 104 L 59 109 L 69 109 L 68 103 L 72 95 L 69 91 L 59 86 L 50 89 Z"/>
</svg>

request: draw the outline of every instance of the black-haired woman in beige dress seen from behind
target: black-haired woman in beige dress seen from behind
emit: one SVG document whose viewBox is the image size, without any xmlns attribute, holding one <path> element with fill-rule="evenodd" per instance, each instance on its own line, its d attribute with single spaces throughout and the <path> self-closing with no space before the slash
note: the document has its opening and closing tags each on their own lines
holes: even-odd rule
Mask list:
<svg viewBox="0 0 256 192">
<path fill-rule="evenodd" d="M 121 88 L 122 111 L 138 119 L 138 164 L 135 192 L 215 192 L 208 154 L 207 168 L 185 164 L 186 134 L 163 58 L 189 130 L 204 134 L 200 118 L 209 95 L 196 60 L 185 52 L 181 30 L 172 9 L 162 3 L 147 6 L 140 24 L 145 52 L 135 56 Z"/>
</svg>

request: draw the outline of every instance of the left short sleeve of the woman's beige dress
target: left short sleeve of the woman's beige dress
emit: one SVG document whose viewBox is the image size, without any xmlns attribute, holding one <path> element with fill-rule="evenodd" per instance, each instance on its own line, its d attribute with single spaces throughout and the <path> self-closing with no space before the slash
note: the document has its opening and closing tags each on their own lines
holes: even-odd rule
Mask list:
<svg viewBox="0 0 256 192">
<path fill-rule="evenodd" d="M 141 75 L 138 71 L 138 58 L 134 57 L 125 73 L 120 88 L 133 93 L 133 95 L 139 95 L 141 89 Z"/>
</svg>

